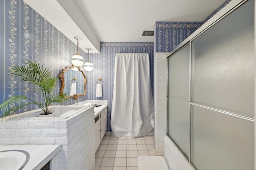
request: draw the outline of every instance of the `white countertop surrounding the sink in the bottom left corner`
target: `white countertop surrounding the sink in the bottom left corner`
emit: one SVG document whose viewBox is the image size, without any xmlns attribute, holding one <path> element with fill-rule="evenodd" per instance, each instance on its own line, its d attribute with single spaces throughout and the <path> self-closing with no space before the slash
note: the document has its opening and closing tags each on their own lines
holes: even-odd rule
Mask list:
<svg viewBox="0 0 256 170">
<path fill-rule="evenodd" d="M 4 150 L 24 150 L 29 153 L 28 163 L 22 170 L 39 170 L 47 162 L 51 161 L 51 169 L 57 170 L 58 152 L 60 145 L 1 145 L 0 151 Z"/>
</svg>

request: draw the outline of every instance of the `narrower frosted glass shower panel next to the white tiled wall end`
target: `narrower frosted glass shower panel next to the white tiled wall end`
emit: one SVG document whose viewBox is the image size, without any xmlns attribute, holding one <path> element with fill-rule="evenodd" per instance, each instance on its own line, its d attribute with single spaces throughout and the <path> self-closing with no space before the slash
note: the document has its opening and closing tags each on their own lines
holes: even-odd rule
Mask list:
<svg viewBox="0 0 256 170">
<path fill-rule="evenodd" d="M 189 44 L 168 59 L 168 135 L 190 154 Z"/>
</svg>

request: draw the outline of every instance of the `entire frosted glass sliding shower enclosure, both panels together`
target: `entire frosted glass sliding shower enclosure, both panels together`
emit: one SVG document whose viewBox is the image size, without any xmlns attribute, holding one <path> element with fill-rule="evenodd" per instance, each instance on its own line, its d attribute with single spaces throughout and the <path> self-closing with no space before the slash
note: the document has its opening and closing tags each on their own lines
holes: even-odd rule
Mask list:
<svg viewBox="0 0 256 170">
<path fill-rule="evenodd" d="M 254 170 L 254 0 L 168 57 L 168 130 L 197 170 Z"/>
</svg>

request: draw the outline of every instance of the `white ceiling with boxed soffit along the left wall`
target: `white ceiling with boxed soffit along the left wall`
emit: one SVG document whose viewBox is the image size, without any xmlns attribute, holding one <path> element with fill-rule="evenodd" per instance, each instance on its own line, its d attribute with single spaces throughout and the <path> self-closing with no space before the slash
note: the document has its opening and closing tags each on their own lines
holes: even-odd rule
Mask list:
<svg viewBox="0 0 256 170">
<path fill-rule="evenodd" d="M 64 35 L 100 52 L 100 42 L 154 42 L 156 21 L 203 21 L 225 0 L 24 0 Z M 81 45 L 80 45 L 81 47 Z M 83 47 L 81 47 L 83 49 Z M 83 50 L 84 50 L 83 49 Z M 86 51 L 86 50 L 84 50 Z"/>
</svg>

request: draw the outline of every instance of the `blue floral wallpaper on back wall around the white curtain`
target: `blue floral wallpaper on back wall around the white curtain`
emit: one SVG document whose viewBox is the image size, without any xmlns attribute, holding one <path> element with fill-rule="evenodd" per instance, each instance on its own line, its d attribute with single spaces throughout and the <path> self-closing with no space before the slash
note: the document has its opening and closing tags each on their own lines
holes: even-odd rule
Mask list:
<svg viewBox="0 0 256 170">
<path fill-rule="evenodd" d="M 108 100 L 108 129 L 110 128 L 110 116 L 112 106 L 112 96 L 114 87 L 114 66 L 116 53 L 148 53 L 150 57 L 150 67 L 154 68 L 154 43 L 120 43 L 104 42 L 100 43 L 100 54 L 90 55 L 90 61 L 94 64 L 91 72 L 86 72 L 87 100 Z M 102 78 L 102 97 L 96 97 L 96 82 Z M 153 71 L 151 71 L 151 83 L 153 89 Z"/>
</svg>

